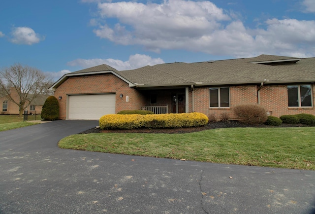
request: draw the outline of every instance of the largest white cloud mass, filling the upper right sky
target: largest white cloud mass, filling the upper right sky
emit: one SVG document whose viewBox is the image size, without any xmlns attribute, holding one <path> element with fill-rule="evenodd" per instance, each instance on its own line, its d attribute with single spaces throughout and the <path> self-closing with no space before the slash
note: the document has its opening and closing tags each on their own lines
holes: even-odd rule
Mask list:
<svg viewBox="0 0 315 214">
<path fill-rule="evenodd" d="M 315 1 L 304 0 L 309 8 Z M 210 1 L 164 0 L 157 3 L 98 3 L 96 36 L 145 49 L 189 50 L 214 55 L 315 56 L 315 21 L 268 19 L 246 27 L 235 15 Z M 112 19 L 114 18 L 114 19 Z M 107 19 L 116 23 L 106 22 Z M 100 25 L 98 23 L 107 23 Z"/>
</svg>

